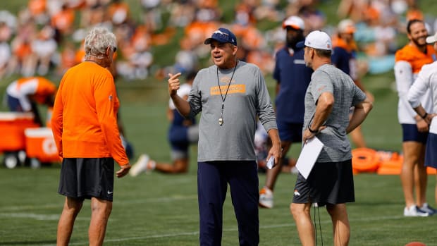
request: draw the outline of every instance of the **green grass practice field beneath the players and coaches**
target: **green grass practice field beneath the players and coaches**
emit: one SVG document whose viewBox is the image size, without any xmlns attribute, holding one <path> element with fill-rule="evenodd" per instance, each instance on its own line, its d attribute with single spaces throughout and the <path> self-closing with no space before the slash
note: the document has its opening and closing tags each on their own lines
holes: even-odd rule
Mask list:
<svg viewBox="0 0 437 246">
<path fill-rule="evenodd" d="M 267 78 L 269 90 L 273 81 Z M 374 110 L 363 125 L 369 147 L 400 151 L 393 75 L 368 76 Z M 156 161 L 168 161 L 166 82 L 120 82 L 121 117 L 126 137 L 138 155 L 147 152 Z M 297 156 L 295 146 L 291 155 Z M 196 152 L 192 146 L 190 171 L 164 175 L 143 173 L 116 179 L 113 211 L 104 245 L 198 245 Z M 116 169 L 118 167 L 116 166 Z M 260 245 L 300 245 L 289 205 L 296 176 L 282 173 L 276 183 L 275 207 L 260 209 Z M 259 174 L 260 187 L 264 173 Z M 59 164 L 39 169 L 0 168 L 0 245 L 56 245 L 56 226 L 64 198 L 56 193 Z M 429 176 L 428 201 L 434 203 L 435 176 Z M 399 176 L 372 173 L 355 176 L 356 202 L 348 205 L 350 245 L 405 245 L 420 241 L 437 245 L 437 216 L 405 218 Z M 314 216 L 314 210 L 312 210 Z M 332 245 L 332 227 L 326 210 L 316 210 L 317 245 Z M 75 223 L 70 245 L 87 245 L 90 202 Z M 224 205 L 223 245 L 238 245 L 238 228 L 228 195 Z"/>
</svg>

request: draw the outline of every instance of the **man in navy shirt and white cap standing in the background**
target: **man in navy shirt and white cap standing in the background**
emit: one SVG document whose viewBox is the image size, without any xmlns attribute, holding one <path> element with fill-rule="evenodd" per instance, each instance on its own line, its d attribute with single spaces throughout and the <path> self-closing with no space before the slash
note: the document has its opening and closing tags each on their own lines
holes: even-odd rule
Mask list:
<svg viewBox="0 0 437 246">
<path fill-rule="evenodd" d="M 312 69 L 304 62 L 304 49 L 297 49 L 296 44 L 304 39 L 304 21 L 297 16 L 290 16 L 283 22 L 286 30 L 286 44 L 276 53 L 276 66 L 273 78 L 276 80 L 276 121 L 282 143 L 282 156 L 288 152 L 293 142 L 302 141 L 304 123 L 304 97 Z M 273 188 L 281 172 L 279 165 L 266 171 L 266 184 L 259 191 L 259 206 L 267 209 L 273 207 Z"/>
</svg>

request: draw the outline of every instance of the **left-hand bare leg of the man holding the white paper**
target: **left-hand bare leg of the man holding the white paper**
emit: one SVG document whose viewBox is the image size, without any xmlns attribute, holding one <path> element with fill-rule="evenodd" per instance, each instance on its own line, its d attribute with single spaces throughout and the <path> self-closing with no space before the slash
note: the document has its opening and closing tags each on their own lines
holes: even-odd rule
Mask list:
<svg viewBox="0 0 437 246">
<path fill-rule="evenodd" d="M 314 246 L 316 245 L 316 238 L 314 235 L 314 226 L 311 221 L 311 203 L 290 204 L 290 211 L 295 219 L 297 233 L 299 233 L 300 242 L 302 246 Z"/>
</svg>

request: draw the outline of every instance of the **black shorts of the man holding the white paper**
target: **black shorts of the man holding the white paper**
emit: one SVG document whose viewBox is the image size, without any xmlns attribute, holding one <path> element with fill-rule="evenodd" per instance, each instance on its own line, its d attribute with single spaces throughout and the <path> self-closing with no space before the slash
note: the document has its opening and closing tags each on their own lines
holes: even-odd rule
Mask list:
<svg viewBox="0 0 437 246">
<path fill-rule="evenodd" d="M 316 162 L 308 179 L 299 173 L 293 203 L 342 204 L 355 202 L 352 160 Z"/>
</svg>

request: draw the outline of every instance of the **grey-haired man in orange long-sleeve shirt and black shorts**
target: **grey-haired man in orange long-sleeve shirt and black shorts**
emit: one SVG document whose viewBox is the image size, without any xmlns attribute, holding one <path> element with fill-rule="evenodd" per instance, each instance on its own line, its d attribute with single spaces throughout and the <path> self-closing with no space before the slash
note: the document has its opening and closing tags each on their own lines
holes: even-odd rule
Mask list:
<svg viewBox="0 0 437 246">
<path fill-rule="evenodd" d="M 51 125 L 63 158 L 59 194 L 66 196 L 58 223 L 57 245 L 68 245 L 84 199 L 91 199 L 90 245 L 102 245 L 112 210 L 114 160 L 116 176 L 130 164 L 117 125 L 116 86 L 108 68 L 116 37 L 94 27 L 85 37 L 85 61 L 67 70 L 56 94 Z"/>
</svg>

